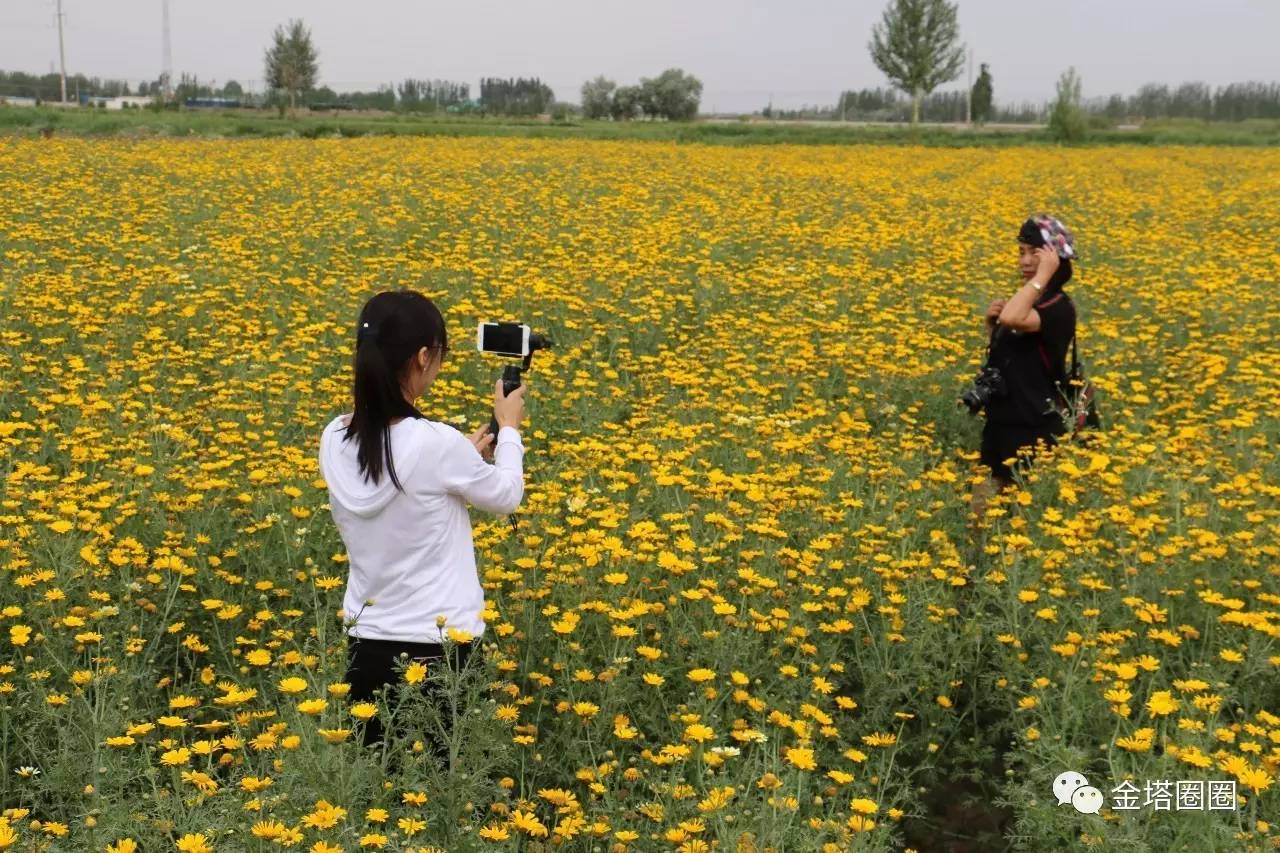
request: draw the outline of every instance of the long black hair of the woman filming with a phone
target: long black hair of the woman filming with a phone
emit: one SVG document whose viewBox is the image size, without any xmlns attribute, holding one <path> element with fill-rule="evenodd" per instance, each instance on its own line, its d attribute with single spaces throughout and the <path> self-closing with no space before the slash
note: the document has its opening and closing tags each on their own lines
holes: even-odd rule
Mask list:
<svg viewBox="0 0 1280 853">
<path fill-rule="evenodd" d="M 385 460 L 392 483 L 404 491 L 392 462 L 390 420 L 426 415 L 404 400 L 401 380 L 419 350 L 448 343 L 440 310 L 416 291 L 384 291 L 360 310 L 353 360 L 356 407 L 343 441 L 356 438 L 360 470 L 375 484 Z"/>
</svg>

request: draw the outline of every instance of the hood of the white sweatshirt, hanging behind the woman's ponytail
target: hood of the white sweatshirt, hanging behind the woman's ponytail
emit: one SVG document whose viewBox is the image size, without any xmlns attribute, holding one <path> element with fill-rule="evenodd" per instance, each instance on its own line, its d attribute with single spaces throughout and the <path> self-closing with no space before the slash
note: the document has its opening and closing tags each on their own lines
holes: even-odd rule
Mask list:
<svg viewBox="0 0 1280 853">
<path fill-rule="evenodd" d="M 343 441 L 347 430 L 343 418 L 334 418 L 320 435 L 320 476 L 329 487 L 330 500 L 357 516 L 370 517 L 381 512 L 401 492 L 392 483 L 385 465 L 378 483 L 360 471 L 356 459 L 358 442 L 355 435 Z M 425 421 L 420 424 L 417 420 L 406 418 L 390 426 L 392 459 L 401 485 L 413 473 L 426 448 Z"/>
</svg>

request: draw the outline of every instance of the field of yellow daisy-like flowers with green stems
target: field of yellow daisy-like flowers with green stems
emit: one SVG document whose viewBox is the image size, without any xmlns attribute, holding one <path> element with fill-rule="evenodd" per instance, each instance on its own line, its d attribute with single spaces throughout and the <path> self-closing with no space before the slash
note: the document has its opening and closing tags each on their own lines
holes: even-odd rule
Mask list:
<svg viewBox="0 0 1280 853">
<path fill-rule="evenodd" d="M 1280 848 L 1276 199 L 1267 149 L 0 141 L 0 849 Z M 1039 210 L 1105 429 L 970 532 Z M 352 735 L 316 461 L 396 288 L 468 432 L 475 323 L 556 342 L 443 777 Z"/>
</svg>

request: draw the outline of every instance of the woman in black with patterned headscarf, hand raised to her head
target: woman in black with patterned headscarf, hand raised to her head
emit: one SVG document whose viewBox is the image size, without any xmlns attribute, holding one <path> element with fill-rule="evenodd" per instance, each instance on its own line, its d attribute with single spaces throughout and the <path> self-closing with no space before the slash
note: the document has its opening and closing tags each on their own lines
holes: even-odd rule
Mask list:
<svg viewBox="0 0 1280 853">
<path fill-rule="evenodd" d="M 1021 286 L 986 313 L 991 333 L 988 365 L 1000 371 L 1001 388 L 986 401 L 982 461 L 991 476 L 973 493 L 978 517 L 987 500 L 1012 484 L 1009 460 L 1030 460 L 1038 442 L 1056 443 L 1066 432 L 1060 414 L 1066 351 L 1075 336 L 1075 305 L 1062 289 L 1071 278 L 1075 240 L 1059 219 L 1032 216 L 1018 232 Z"/>
</svg>

